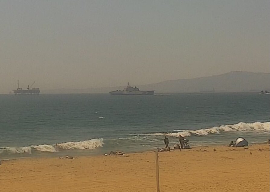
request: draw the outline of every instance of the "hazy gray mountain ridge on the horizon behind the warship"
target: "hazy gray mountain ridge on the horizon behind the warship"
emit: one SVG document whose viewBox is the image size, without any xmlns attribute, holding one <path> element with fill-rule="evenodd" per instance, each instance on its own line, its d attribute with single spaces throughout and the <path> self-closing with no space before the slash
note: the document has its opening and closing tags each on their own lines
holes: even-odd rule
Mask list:
<svg viewBox="0 0 270 192">
<path fill-rule="evenodd" d="M 252 92 L 270 90 L 270 73 L 233 71 L 221 75 L 193 79 L 168 80 L 154 84 L 140 85 L 140 90 L 155 90 L 156 93 L 185 92 Z M 124 87 L 54 89 L 42 93 L 108 93 Z"/>
</svg>

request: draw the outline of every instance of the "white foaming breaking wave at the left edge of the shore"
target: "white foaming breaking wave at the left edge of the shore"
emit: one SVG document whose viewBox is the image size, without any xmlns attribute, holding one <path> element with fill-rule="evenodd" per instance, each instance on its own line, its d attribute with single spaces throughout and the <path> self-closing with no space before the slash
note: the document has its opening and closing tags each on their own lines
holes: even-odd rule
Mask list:
<svg viewBox="0 0 270 192">
<path fill-rule="evenodd" d="M 42 145 L 30 145 L 27 147 L 0 147 L 1 153 L 16 154 L 16 153 L 27 153 L 31 154 L 33 151 L 38 152 L 58 152 L 60 150 L 93 150 L 97 147 L 103 146 L 103 138 L 100 139 L 91 139 L 87 141 L 78 141 L 78 142 L 66 142 L 59 144 L 42 144 Z"/>
</svg>

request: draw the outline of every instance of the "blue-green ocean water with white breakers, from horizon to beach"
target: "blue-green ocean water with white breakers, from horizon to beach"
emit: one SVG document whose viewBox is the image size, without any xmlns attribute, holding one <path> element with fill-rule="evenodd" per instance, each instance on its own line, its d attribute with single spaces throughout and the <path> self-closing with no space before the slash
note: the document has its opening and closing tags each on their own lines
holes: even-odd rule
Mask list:
<svg viewBox="0 0 270 192">
<path fill-rule="evenodd" d="M 270 95 L 257 93 L 0 95 L 0 159 L 137 152 L 270 138 Z"/>
</svg>

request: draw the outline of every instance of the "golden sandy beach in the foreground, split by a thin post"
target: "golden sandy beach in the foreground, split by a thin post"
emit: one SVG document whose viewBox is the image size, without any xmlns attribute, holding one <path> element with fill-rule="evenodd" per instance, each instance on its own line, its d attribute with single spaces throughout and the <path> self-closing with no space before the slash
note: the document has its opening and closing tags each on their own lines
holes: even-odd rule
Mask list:
<svg viewBox="0 0 270 192">
<path fill-rule="evenodd" d="M 269 145 L 247 148 L 198 147 L 160 152 L 160 191 L 267 192 Z M 3 161 L 0 191 L 155 192 L 155 153 L 127 156 Z"/>
</svg>

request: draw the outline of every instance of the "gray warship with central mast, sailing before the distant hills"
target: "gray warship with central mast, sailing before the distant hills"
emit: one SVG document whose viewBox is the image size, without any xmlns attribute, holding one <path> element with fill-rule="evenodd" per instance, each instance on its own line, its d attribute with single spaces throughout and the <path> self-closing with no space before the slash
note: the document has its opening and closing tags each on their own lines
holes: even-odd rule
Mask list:
<svg viewBox="0 0 270 192">
<path fill-rule="evenodd" d="M 141 91 L 138 87 L 126 86 L 123 90 L 110 91 L 111 95 L 153 95 L 154 91 Z"/>
</svg>

